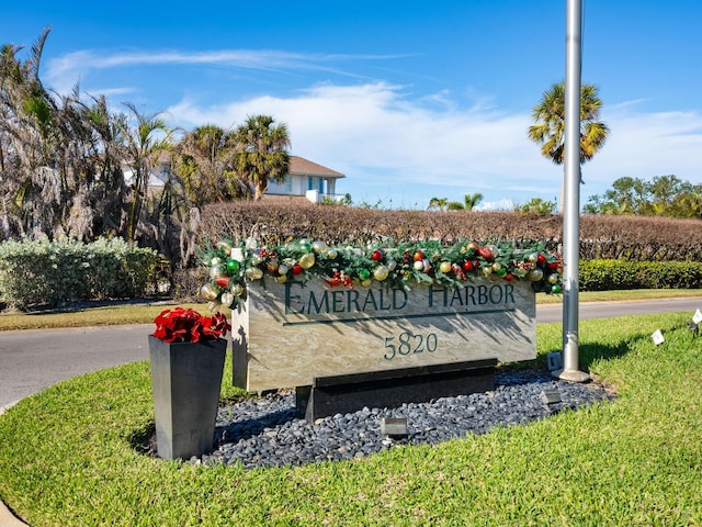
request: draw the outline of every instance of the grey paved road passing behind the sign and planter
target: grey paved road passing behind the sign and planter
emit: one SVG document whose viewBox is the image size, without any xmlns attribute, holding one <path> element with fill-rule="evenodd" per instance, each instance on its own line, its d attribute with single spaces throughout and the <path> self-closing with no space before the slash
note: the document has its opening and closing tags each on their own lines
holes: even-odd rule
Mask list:
<svg viewBox="0 0 702 527">
<path fill-rule="evenodd" d="M 635 302 L 592 302 L 580 319 L 702 309 L 702 298 Z M 536 307 L 536 322 L 561 322 L 563 306 Z M 57 382 L 112 366 L 148 359 L 154 324 L 58 330 L 0 332 L 0 407 Z"/>
</svg>

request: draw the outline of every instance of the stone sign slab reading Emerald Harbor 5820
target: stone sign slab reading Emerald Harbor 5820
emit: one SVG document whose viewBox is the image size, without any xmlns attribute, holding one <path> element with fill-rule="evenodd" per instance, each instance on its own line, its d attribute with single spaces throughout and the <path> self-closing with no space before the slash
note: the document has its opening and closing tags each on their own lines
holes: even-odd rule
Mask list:
<svg viewBox="0 0 702 527">
<path fill-rule="evenodd" d="M 233 307 L 234 382 L 265 391 L 344 373 L 533 359 L 535 316 L 528 281 L 406 290 L 267 280 Z"/>
</svg>

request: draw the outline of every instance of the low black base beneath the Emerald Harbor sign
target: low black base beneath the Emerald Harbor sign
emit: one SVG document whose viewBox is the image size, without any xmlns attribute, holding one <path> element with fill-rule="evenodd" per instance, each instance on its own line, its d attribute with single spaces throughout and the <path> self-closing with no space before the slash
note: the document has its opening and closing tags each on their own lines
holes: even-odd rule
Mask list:
<svg viewBox="0 0 702 527">
<path fill-rule="evenodd" d="M 308 423 L 367 407 L 397 407 L 495 389 L 497 359 L 315 377 L 297 386 L 297 412 Z"/>
</svg>

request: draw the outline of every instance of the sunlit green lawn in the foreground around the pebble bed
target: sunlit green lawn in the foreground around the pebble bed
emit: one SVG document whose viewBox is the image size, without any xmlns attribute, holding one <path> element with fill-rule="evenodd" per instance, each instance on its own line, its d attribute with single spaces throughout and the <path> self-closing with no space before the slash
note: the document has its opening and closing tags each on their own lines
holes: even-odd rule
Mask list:
<svg viewBox="0 0 702 527">
<path fill-rule="evenodd" d="M 688 322 L 580 323 L 582 368 L 616 388 L 614 402 L 299 468 L 147 458 L 132 442 L 152 427 L 148 363 L 103 370 L 0 418 L 0 497 L 34 527 L 702 525 L 702 337 Z M 561 333 L 537 326 L 540 362 Z"/>
</svg>

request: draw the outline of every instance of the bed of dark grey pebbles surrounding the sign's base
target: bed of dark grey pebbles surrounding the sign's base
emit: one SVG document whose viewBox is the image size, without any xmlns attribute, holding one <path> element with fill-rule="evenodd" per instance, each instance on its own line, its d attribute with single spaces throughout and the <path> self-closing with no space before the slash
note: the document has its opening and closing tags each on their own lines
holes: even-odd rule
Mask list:
<svg viewBox="0 0 702 527">
<path fill-rule="evenodd" d="M 546 404 L 542 392 L 557 390 L 562 402 Z M 570 383 L 545 371 L 496 373 L 495 390 L 442 397 L 397 408 L 367 408 L 337 414 L 312 425 L 295 413 L 295 394 L 279 392 L 220 408 L 212 453 L 193 457 L 196 464 L 242 463 L 247 469 L 350 460 L 395 445 L 435 445 L 497 426 L 542 419 L 611 400 L 596 383 Z M 381 434 L 383 417 L 407 418 L 407 436 Z"/>
</svg>

